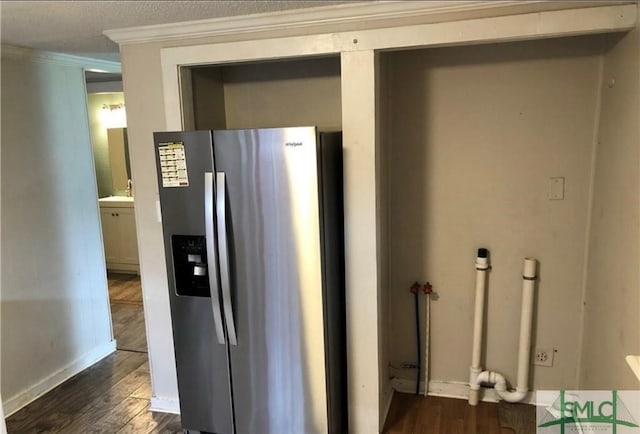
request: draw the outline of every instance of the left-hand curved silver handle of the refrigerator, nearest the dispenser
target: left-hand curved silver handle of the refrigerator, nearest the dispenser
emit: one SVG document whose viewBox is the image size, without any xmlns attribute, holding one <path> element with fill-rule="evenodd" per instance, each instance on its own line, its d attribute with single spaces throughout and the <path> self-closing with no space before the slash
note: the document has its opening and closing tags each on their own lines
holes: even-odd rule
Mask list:
<svg viewBox="0 0 640 434">
<path fill-rule="evenodd" d="M 216 329 L 218 343 L 225 345 L 224 328 L 222 326 L 222 311 L 220 310 L 220 291 L 218 283 L 218 267 L 216 265 L 215 234 L 213 230 L 213 173 L 204 173 L 204 227 L 207 243 L 207 268 L 209 273 L 209 287 L 211 288 L 211 306 L 213 308 L 213 323 Z"/>
</svg>

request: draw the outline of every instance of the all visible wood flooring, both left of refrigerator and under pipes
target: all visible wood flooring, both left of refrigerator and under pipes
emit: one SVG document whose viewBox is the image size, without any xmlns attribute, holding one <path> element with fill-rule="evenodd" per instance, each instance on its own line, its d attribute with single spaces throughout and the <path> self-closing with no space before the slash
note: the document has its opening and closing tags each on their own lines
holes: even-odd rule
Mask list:
<svg viewBox="0 0 640 434">
<path fill-rule="evenodd" d="M 149 411 L 151 383 L 138 276 L 109 273 L 118 351 L 7 419 L 9 433 L 181 433 Z M 126 350 L 123 350 L 125 348 Z M 535 407 L 396 393 L 385 434 L 533 434 Z M 259 433 L 256 433 L 259 434 Z"/>
</svg>

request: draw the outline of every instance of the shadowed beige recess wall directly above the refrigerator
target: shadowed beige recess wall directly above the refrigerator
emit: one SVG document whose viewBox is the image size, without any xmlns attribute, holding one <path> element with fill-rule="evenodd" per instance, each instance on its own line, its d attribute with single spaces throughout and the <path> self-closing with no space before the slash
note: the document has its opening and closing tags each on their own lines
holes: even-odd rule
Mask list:
<svg viewBox="0 0 640 434">
<path fill-rule="evenodd" d="M 338 57 L 197 68 L 192 77 L 196 125 L 341 128 Z"/>
</svg>

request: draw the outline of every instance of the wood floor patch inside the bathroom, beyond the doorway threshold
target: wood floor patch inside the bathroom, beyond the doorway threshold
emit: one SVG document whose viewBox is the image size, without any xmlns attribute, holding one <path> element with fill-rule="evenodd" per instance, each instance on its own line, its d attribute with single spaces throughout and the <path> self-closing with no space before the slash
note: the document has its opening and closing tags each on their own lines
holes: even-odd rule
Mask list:
<svg viewBox="0 0 640 434">
<path fill-rule="evenodd" d="M 119 350 L 147 352 L 140 276 L 109 272 L 109 303 Z"/>
</svg>

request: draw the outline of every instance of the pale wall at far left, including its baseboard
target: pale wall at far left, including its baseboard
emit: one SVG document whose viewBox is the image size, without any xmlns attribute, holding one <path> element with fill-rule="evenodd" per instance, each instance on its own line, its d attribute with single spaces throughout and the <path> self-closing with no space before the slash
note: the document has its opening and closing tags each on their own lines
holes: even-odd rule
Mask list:
<svg viewBox="0 0 640 434">
<path fill-rule="evenodd" d="M 14 54 L 12 54 L 14 53 Z M 81 65 L 2 50 L 2 396 L 114 349 Z"/>
</svg>

